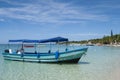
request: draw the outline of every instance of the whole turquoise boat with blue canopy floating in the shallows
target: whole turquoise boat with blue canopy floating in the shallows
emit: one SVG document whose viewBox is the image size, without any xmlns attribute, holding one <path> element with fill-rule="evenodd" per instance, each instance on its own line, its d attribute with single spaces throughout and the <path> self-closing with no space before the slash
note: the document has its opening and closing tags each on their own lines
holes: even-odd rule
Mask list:
<svg viewBox="0 0 120 80">
<path fill-rule="evenodd" d="M 51 50 L 46 52 L 25 52 L 24 48 L 31 48 L 36 47 L 32 46 L 31 44 L 35 43 L 40 45 L 40 43 L 56 43 L 57 45 L 60 45 L 59 42 L 68 42 L 67 38 L 62 37 L 55 37 L 51 39 L 44 39 L 44 40 L 28 40 L 28 39 L 22 39 L 22 40 L 9 40 L 9 42 L 21 42 L 22 46 L 20 50 L 17 50 L 15 52 L 12 52 L 11 49 L 5 49 L 4 53 L 2 53 L 5 60 L 14 60 L 14 61 L 30 61 L 30 62 L 42 62 L 42 63 L 78 63 L 80 58 L 87 52 L 88 48 L 80 48 L 80 49 L 74 49 L 69 50 L 68 48 L 65 48 L 64 51 L 55 51 L 52 52 Z M 30 45 L 26 45 L 29 44 Z M 25 47 L 24 47 L 25 45 Z M 41 49 L 41 48 L 40 48 Z"/>
</svg>

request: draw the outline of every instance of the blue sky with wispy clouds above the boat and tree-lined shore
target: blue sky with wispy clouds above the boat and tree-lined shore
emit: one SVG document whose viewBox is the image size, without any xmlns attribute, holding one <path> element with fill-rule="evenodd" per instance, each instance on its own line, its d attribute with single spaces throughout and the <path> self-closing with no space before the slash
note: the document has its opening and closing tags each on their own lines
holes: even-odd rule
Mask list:
<svg viewBox="0 0 120 80">
<path fill-rule="evenodd" d="M 0 43 L 9 39 L 70 40 L 120 33 L 120 0 L 0 0 Z"/>
</svg>

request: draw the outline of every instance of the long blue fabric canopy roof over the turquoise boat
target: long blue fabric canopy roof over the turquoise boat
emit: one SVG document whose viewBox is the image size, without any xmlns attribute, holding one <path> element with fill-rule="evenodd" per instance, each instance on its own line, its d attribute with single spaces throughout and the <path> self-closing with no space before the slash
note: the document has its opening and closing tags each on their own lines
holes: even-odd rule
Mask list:
<svg viewBox="0 0 120 80">
<path fill-rule="evenodd" d="M 23 43 L 47 43 L 47 42 L 62 42 L 62 41 L 68 41 L 68 39 L 63 37 L 55 37 L 44 40 L 29 40 L 29 39 L 9 40 L 9 42 L 23 42 Z"/>
</svg>

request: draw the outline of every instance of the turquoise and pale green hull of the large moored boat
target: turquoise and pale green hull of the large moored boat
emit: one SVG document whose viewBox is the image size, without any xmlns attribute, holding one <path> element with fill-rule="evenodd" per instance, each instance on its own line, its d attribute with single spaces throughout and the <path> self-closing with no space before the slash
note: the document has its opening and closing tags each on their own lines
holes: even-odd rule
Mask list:
<svg viewBox="0 0 120 80">
<path fill-rule="evenodd" d="M 77 63 L 85 54 L 87 48 L 71 50 L 59 53 L 3 53 L 5 60 L 13 61 L 28 61 L 28 62 L 42 62 L 42 63 Z"/>
</svg>

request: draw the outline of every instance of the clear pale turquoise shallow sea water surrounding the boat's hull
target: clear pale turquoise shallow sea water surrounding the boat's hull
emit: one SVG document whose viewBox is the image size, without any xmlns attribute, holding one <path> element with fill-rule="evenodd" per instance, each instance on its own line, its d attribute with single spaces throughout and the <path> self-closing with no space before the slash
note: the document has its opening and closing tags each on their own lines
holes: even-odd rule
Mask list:
<svg viewBox="0 0 120 80">
<path fill-rule="evenodd" d="M 78 64 L 8 61 L 0 54 L 0 80 L 120 80 L 120 47 L 92 46 L 86 54 Z"/>
</svg>

